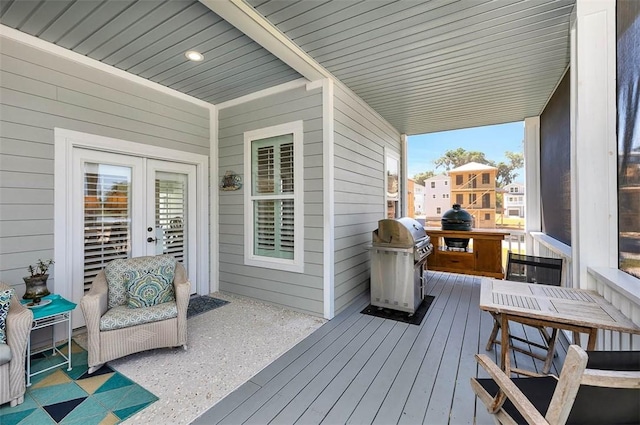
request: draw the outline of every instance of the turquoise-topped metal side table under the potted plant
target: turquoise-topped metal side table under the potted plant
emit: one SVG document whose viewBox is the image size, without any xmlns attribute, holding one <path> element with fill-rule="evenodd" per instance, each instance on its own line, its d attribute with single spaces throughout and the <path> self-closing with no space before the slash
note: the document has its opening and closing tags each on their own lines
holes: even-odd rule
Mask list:
<svg viewBox="0 0 640 425">
<path fill-rule="evenodd" d="M 27 356 L 27 387 L 29 387 L 31 386 L 32 376 L 62 365 L 67 365 L 67 370 L 71 370 L 71 312 L 76 308 L 76 304 L 57 294 L 50 294 L 46 297 L 42 297 L 40 304 L 36 306 L 29 305 L 31 300 L 21 300 L 20 302 L 33 311 L 33 324 L 31 325 L 31 330 L 42 329 L 64 322 L 67 322 L 68 327 L 66 356 L 58 349 L 58 347 L 56 347 L 55 338 L 52 338 L 53 342 L 51 344 L 51 348 L 47 347 L 34 352 L 31 352 L 31 337 L 27 340 L 27 353 L 29 353 Z M 59 354 L 62 357 L 62 361 L 53 366 L 49 366 L 46 369 L 31 373 L 31 355 L 42 353 L 49 349 L 53 355 Z"/>
</svg>

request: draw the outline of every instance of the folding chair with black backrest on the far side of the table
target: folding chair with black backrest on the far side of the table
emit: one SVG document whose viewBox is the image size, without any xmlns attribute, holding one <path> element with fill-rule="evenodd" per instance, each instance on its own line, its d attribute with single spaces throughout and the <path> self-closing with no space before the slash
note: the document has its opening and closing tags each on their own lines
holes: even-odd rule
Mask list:
<svg viewBox="0 0 640 425">
<path fill-rule="evenodd" d="M 505 279 L 517 282 L 542 283 L 545 285 L 560 286 L 560 283 L 562 282 L 562 258 L 534 257 L 532 255 L 514 254 L 513 252 L 509 252 Z M 500 344 L 500 339 L 498 338 L 498 331 L 500 330 L 501 322 L 500 315 L 494 314 L 493 318 L 493 330 L 491 331 L 489 341 L 487 341 L 487 351 L 491 350 L 494 344 Z M 555 354 L 558 330 L 552 329 L 551 333 L 549 333 L 549 331 L 543 326 L 536 328 L 540 331 L 543 344 L 515 335 L 509 335 L 510 341 L 517 340 L 526 344 L 525 347 L 521 347 L 511 343 L 511 349 L 544 361 L 542 371 L 547 374 L 549 373 L 551 362 L 553 361 L 553 356 Z M 537 347 L 538 349 L 543 350 L 544 354 L 539 354 L 533 351 L 531 347 Z"/>
</svg>

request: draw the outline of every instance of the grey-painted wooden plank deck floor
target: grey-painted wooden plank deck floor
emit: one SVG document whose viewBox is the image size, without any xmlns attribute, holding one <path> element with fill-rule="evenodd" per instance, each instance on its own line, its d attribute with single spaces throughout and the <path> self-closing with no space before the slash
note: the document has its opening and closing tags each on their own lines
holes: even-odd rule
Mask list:
<svg viewBox="0 0 640 425">
<path fill-rule="evenodd" d="M 480 279 L 429 272 L 435 296 L 420 326 L 360 314 L 362 297 L 282 355 L 194 424 L 489 424 L 469 378 L 493 326 L 478 308 Z M 539 338 L 520 325 L 511 332 Z M 552 373 L 566 345 L 558 344 Z M 542 362 L 517 354 L 517 367 Z M 481 376 L 482 370 L 480 371 Z"/>
</svg>

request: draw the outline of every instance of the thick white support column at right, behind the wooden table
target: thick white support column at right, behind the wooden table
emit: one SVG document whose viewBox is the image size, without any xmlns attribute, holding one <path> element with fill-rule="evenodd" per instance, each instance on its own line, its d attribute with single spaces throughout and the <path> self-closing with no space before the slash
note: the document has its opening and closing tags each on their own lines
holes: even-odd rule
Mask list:
<svg viewBox="0 0 640 425">
<path fill-rule="evenodd" d="M 571 209 L 574 285 L 617 267 L 616 2 L 578 0 L 572 36 Z"/>
</svg>

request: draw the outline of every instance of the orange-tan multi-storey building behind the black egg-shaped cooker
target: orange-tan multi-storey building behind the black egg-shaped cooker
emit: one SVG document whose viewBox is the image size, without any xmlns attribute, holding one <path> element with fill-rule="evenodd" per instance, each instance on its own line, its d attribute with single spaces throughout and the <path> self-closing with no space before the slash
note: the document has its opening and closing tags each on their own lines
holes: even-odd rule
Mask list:
<svg viewBox="0 0 640 425">
<path fill-rule="evenodd" d="M 496 227 L 496 174 L 490 165 L 469 162 L 449 171 L 451 202 L 460 204 L 474 217 L 474 227 Z"/>
</svg>

